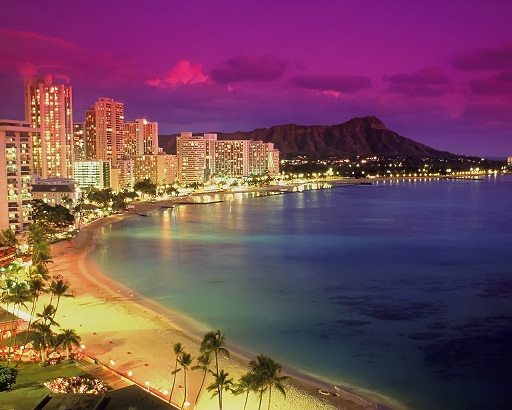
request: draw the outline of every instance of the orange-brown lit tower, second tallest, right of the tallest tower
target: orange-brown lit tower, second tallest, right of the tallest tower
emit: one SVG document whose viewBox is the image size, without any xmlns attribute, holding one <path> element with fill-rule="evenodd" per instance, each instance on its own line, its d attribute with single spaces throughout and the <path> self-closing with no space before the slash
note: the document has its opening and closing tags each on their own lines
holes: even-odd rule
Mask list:
<svg viewBox="0 0 512 410">
<path fill-rule="evenodd" d="M 123 103 L 100 98 L 85 112 L 86 159 L 110 161 L 116 166 L 124 157 L 123 129 Z"/>
</svg>

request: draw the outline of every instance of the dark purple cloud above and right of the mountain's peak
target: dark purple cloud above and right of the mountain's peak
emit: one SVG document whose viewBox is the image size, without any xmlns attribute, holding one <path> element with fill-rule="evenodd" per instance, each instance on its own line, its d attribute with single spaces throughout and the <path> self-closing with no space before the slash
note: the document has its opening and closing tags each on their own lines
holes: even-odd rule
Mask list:
<svg viewBox="0 0 512 410">
<path fill-rule="evenodd" d="M 389 90 L 408 97 L 440 97 L 451 92 L 446 75 L 435 67 L 426 67 L 416 73 L 398 73 L 384 77 Z"/>
</svg>

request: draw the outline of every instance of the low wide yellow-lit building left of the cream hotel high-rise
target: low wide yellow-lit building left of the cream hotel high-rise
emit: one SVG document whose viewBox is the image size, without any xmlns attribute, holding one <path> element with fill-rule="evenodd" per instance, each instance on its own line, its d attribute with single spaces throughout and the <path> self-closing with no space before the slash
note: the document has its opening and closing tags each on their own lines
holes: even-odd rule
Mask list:
<svg viewBox="0 0 512 410">
<path fill-rule="evenodd" d="M 132 160 L 135 182 L 149 179 L 156 185 L 168 185 L 176 181 L 176 155 L 134 155 Z"/>
</svg>

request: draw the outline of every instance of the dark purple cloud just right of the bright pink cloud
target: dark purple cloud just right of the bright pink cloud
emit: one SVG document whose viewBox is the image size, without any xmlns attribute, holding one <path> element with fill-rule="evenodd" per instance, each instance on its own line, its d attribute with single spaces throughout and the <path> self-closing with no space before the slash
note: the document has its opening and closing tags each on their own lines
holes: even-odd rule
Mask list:
<svg viewBox="0 0 512 410">
<path fill-rule="evenodd" d="M 238 81 L 275 81 L 283 77 L 288 61 L 267 54 L 261 57 L 239 56 L 224 63 L 222 68 L 214 68 L 211 77 L 217 84 Z"/>
</svg>

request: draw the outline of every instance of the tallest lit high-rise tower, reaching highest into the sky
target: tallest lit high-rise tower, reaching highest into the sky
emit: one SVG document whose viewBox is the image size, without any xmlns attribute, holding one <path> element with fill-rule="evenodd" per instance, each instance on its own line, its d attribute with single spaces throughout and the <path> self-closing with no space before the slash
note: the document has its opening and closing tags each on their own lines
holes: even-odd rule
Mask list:
<svg viewBox="0 0 512 410">
<path fill-rule="evenodd" d="M 72 177 L 71 86 L 54 85 L 51 76 L 26 79 L 25 120 L 40 129 L 32 140 L 32 172 L 42 178 Z"/>
</svg>

